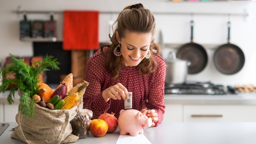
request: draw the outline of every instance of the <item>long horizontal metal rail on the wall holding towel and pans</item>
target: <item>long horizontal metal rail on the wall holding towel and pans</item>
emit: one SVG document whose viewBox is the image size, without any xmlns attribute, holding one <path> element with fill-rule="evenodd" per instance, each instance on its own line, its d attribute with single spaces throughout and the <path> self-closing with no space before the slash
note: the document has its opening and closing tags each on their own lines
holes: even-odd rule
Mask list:
<svg viewBox="0 0 256 144">
<path fill-rule="evenodd" d="M 102 11 L 101 14 L 119 14 L 120 12 L 108 12 Z M 243 16 L 246 18 L 249 14 L 244 11 L 243 13 L 182 13 L 182 12 L 152 12 L 153 14 L 164 14 L 164 15 L 223 15 L 223 16 Z M 16 11 L 16 14 L 63 14 L 63 11 Z"/>
</svg>

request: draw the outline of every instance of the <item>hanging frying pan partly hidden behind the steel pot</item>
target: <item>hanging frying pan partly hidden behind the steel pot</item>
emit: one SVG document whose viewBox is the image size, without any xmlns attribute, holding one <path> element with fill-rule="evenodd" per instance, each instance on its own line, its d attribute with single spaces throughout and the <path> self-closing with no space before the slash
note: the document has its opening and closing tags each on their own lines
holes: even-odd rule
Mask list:
<svg viewBox="0 0 256 144">
<path fill-rule="evenodd" d="M 191 64 L 188 67 L 188 74 L 200 73 L 204 68 L 206 68 L 209 63 L 209 54 L 206 48 L 200 44 L 193 42 L 193 26 L 194 22 L 190 22 L 191 25 L 191 41 L 180 47 L 177 52 L 177 57 L 179 59 L 190 61 Z"/>
</svg>

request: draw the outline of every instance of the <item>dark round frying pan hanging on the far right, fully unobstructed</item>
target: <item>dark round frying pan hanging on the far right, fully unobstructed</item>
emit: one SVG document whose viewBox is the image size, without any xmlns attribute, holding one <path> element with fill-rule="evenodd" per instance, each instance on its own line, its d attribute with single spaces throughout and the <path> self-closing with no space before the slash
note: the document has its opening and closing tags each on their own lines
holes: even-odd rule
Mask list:
<svg viewBox="0 0 256 144">
<path fill-rule="evenodd" d="M 243 51 L 230 43 L 230 22 L 228 22 L 228 43 L 216 49 L 213 56 L 215 68 L 223 74 L 233 75 L 243 68 L 244 61 Z"/>
</svg>

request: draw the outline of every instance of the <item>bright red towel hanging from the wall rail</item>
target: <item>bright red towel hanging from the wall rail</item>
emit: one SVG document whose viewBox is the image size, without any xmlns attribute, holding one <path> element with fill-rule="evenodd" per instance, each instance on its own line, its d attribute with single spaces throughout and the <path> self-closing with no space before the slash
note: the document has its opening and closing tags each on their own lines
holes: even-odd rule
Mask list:
<svg viewBox="0 0 256 144">
<path fill-rule="evenodd" d="M 64 11 L 63 50 L 99 49 L 99 12 Z"/>
</svg>

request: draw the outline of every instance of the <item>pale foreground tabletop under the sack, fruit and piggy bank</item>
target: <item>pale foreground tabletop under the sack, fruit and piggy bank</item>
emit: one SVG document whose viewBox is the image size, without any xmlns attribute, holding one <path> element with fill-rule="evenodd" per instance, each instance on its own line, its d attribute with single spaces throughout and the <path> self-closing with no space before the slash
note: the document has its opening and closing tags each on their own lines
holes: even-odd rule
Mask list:
<svg viewBox="0 0 256 144">
<path fill-rule="evenodd" d="M 7 122 L 8 123 L 8 122 Z M 23 144 L 11 138 L 15 122 L 0 135 L 3 144 Z M 144 130 L 144 136 L 152 144 L 255 144 L 256 123 L 161 123 L 157 127 Z M 74 144 L 115 144 L 119 138 L 119 128 L 103 137 L 78 139 Z M 131 136 L 132 137 L 132 136 Z"/>
</svg>

